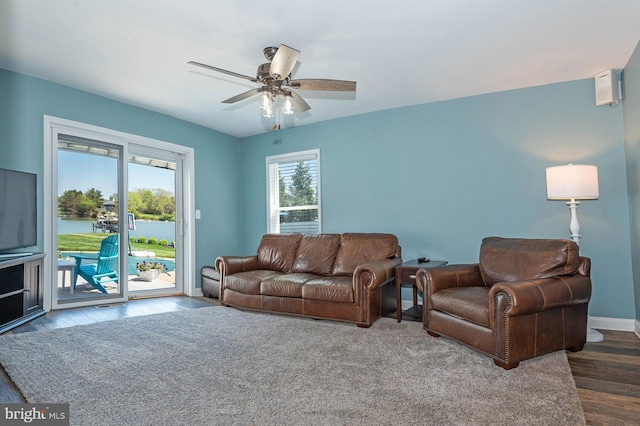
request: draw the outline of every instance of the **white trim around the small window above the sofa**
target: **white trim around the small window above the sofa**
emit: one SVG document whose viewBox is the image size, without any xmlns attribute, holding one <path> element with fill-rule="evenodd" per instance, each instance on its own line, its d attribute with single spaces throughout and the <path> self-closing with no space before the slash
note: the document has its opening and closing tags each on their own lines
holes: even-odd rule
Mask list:
<svg viewBox="0 0 640 426">
<path fill-rule="evenodd" d="M 273 191 L 271 185 L 279 185 L 277 179 L 275 179 L 274 169 L 270 166 L 278 163 L 288 163 L 295 161 L 305 161 L 305 160 L 316 160 L 318 174 L 318 233 L 322 233 L 322 184 L 320 179 L 320 149 L 310 149 L 307 151 L 297 151 L 290 152 L 287 154 L 279 154 L 279 155 L 270 155 L 266 157 L 266 192 L 267 192 L 267 232 L 268 233 L 280 233 L 280 221 L 273 218 L 274 214 L 278 214 L 278 210 L 280 210 L 280 200 L 279 195 L 280 191 Z M 271 194 L 276 194 L 275 197 L 271 197 Z M 272 228 L 272 224 L 275 224 L 275 228 Z"/>
</svg>

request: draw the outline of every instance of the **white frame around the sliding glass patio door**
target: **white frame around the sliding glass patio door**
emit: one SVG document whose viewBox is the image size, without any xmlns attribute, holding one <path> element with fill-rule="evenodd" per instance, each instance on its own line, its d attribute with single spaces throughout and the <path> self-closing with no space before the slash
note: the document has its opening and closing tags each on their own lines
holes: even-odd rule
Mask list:
<svg viewBox="0 0 640 426">
<path fill-rule="evenodd" d="M 146 138 L 130 133 L 118 132 L 103 127 L 93 126 L 77 121 L 67 120 L 64 118 L 53 117 L 49 115 L 44 116 L 44 165 L 43 165 L 43 191 L 44 191 L 44 252 L 47 255 L 45 258 L 45 274 L 44 274 L 44 309 L 50 311 L 54 305 L 53 298 L 56 297 L 52 290 L 52 277 L 51 271 L 57 271 L 57 250 L 53 247 L 52 232 L 55 230 L 54 221 L 56 215 L 53 211 L 53 197 L 52 194 L 57 194 L 57 142 L 54 140 L 54 134 L 59 131 L 71 131 L 74 134 L 84 135 L 87 138 L 104 140 L 105 142 L 115 143 L 123 145 L 124 158 L 128 155 L 128 144 L 146 145 L 154 148 L 164 149 L 167 151 L 173 151 L 184 155 L 184 170 L 183 176 L 183 201 L 184 201 L 184 217 L 182 223 L 180 223 L 184 233 L 184 267 L 183 267 L 183 283 L 184 292 L 187 296 L 198 296 L 202 293 L 198 293 L 196 290 L 196 277 L 195 277 L 195 161 L 194 161 L 194 149 L 178 145 L 170 142 L 165 142 L 157 139 Z M 97 136 L 99 135 L 99 136 Z M 126 167 L 123 171 L 126 179 Z M 123 183 L 124 184 L 124 183 Z M 122 189 L 124 191 L 124 189 Z M 124 203 L 126 205 L 126 191 L 123 192 L 125 197 Z M 122 241 L 121 244 L 126 244 Z M 122 249 L 122 247 L 121 247 Z M 122 249 L 124 253 L 124 249 Z M 198 289 L 199 290 L 199 289 Z M 127 300 L 127 290 L 123 292 L 123 300 Z M 111 300 L 113 302 L 115 300 Z M 78 304 L 68 304 L 65 307 L 75 307 L 92 304 L 92 302 L 79 302 Z"/>
</svg>

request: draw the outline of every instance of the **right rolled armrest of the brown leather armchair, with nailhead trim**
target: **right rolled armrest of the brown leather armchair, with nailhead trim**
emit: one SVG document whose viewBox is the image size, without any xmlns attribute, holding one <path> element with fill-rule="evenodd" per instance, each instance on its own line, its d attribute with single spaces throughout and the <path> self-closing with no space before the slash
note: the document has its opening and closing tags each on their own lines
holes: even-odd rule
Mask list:
<svg viewBox="0 0 640 426">
<path fill-rule="evenodd" d="M 501 315 L 504 311 L 504 316 L 514 317 L 588 303 L 589 299 L 591 278 L 583 275 L 500 282 L 489 291 L 489 312 Z M 492 316 L 491 321 L 494 320 Z"/>
</svg>

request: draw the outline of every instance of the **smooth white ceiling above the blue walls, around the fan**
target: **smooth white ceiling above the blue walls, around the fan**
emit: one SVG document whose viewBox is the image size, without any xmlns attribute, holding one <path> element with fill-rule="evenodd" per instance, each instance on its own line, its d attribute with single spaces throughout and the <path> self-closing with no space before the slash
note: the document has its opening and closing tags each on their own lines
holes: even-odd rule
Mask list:
<svg viewBox="0 0 640 426">
<path fill-rule="evenodd" d="M 640 40 L 638 0 L 0 0 L 0 68 L 237 137 L 271 130 L 255 76 L 262 50 L 301 51 L 293 78 L 355 80 L 298 91 L 302 126 L 372 111 L 620 71 Z M 595 104 L 595 99 L 594 99 Z"/>
</svg>

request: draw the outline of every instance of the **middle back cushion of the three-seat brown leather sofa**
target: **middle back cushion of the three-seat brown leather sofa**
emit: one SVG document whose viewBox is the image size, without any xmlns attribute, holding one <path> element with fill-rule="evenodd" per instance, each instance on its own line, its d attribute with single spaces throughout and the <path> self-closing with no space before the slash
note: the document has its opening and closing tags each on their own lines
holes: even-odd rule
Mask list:
<svg viewBox="0 0 640 426">
<path fill-rule="evenodd" d="M 305 234 L 298 245 L 291 272 L 330 275 L 339 248 L 339 234 Z"/>
</svg>

